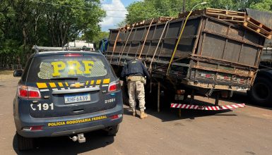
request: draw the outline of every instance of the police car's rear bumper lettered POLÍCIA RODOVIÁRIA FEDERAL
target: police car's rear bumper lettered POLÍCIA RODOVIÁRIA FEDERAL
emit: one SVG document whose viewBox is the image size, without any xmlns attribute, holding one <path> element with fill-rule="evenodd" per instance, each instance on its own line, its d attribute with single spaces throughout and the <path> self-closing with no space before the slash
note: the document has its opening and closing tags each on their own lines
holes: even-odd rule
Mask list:
<svg viewBox="0 0 272 155">
<path fill-rule="evenodd" d="M 57 118 L 32 118 L 23 116 L 14 118 L 16 129 L 23 137 L 55 137 L 74 135 L 77 133 L 100 130 L 112 125 L 117 125 L 123 119 L 122 104 L 117 104 L 114 109 L 87 113 L 77 116 L 65 116 Z M 111 116 L 119 115 L 119 118 L 112 119 Z M 25 130 L 25 127 L 40 126 L 42 130 Z"/>
</svg>

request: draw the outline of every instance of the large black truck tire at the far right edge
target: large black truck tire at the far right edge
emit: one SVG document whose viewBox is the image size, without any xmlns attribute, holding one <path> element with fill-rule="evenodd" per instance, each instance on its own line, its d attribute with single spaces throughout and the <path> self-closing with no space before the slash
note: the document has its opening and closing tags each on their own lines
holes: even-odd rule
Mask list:
<svg viewBox="0 0 272 155">
<path fill-rule="evenodd" d="M 248 94 L 254 104 L 272 106 L 272 82 L 267 78 L 257 77 Z"/>
</svg>

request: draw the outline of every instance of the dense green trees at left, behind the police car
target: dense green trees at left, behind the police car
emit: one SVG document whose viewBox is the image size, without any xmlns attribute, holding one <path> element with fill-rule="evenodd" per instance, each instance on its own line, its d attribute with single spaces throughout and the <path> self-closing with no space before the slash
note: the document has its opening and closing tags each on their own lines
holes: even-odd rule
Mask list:
<svg viewBox="0 0 272 155">
<path fill-rule="evenodd" d="M 0 64 L 25 62 L 32 45 L 93 41 L 105 17 L 100 0 L 0 0 Z"/>
</svg>

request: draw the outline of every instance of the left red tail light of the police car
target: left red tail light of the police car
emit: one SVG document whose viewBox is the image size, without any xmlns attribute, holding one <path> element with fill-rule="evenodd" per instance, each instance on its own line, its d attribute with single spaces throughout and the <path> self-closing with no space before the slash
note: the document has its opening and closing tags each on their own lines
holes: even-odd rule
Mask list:
<svg viewBox="0 0 272 155">
<path fill-rule="evenodd" d="M 40 99 L 40 90 L 36 87 L 18 85 L 18 95 L 23 98 Z"/>
</svg>

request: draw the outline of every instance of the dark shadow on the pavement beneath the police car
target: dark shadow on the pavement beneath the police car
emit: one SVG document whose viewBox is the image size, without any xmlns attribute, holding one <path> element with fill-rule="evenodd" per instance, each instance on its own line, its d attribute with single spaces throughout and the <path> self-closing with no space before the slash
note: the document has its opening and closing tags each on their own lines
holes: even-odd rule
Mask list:
<svg viewBox="0 0 272 155">
<path fill-rule="evenodd" d="M 48 137 L 35 140 L 36 149 L 19 151 L 17 137 L 13 137 L 13 149 L 17 154 L 81 154 L 86 151 L 106 147 L 114 142 L 113 136 L 107 136 L 105 131 L 97 130 L 85 133 L 86 142 L 73 142 L 69 137 Z"/>
</svg>

